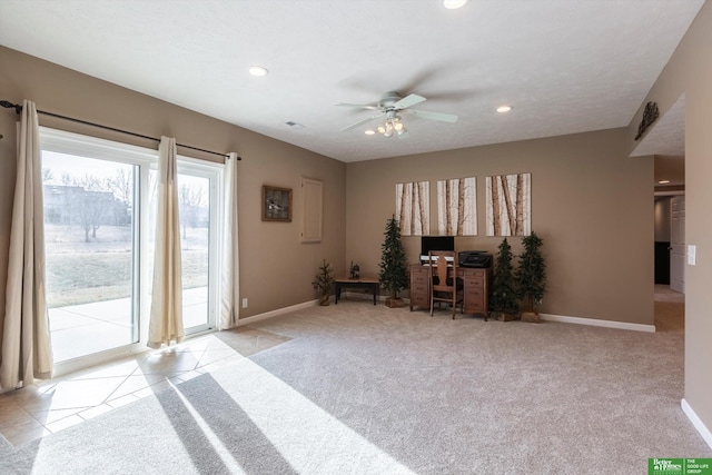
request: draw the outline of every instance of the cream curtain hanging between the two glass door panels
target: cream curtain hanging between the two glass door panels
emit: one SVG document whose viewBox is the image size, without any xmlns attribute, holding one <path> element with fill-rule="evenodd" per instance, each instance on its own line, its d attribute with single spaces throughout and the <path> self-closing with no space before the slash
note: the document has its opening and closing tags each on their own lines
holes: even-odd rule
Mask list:
<svg viewBox="0 0 712 475">
<path fill-rule="evenodd" d="M 158 147 L 158 210 L 154 247 L 154 288 L 148 329 L 150 348 L 180 343 L 182 327 L 182 271 L 178 215 L 176 139 L 161 137 Z"/>
</svg>

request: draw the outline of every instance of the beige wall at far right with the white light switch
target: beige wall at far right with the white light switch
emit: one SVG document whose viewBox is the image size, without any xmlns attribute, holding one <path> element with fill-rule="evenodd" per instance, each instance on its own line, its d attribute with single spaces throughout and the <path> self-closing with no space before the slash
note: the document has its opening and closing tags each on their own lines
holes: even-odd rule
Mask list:
<svg viewBox="0 0 712 475">
<path fill-rule="evenodd" d="M 655 101 L 663 115 L 685 95 L 685 240 L 698 263 L 685 266 L 685 400 L 712 431 L 712 3 L 698 13 L 670 62 L 641 105 Z M 641 111 L 629 127 L 629 148 Z"/>
</svg>

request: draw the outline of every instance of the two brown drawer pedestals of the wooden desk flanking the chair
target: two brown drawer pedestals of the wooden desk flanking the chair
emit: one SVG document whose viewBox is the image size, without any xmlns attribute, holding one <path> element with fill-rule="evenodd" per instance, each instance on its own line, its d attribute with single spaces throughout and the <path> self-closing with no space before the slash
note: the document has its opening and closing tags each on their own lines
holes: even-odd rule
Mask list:
<svg viewBox="0 0 712 475">
<path fill-rule="evenodd" d="M 434 266 L 411 266 L 411 311 L 414 307 L 431 309 L 431 285 Z M 490 275 L 491 269 L 457 267 L 457 277 L 463 279 L 463 311 L 465 314 L 483 314 L 487 321 L 490 311 Z"/>
</svg>

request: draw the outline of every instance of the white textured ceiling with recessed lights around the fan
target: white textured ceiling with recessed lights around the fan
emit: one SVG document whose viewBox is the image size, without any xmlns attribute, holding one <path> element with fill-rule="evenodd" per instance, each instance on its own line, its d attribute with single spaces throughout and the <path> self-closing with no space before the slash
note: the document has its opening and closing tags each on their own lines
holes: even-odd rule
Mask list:
<svg viewBox="0 0 712 475">
<path fill-rule="evenodd" d="M 0 0 L 0 44 L 348 162 L 627 126 L 703 3 Z M 459 120 L 339 131 L 390 90 Z"/>
</svg>

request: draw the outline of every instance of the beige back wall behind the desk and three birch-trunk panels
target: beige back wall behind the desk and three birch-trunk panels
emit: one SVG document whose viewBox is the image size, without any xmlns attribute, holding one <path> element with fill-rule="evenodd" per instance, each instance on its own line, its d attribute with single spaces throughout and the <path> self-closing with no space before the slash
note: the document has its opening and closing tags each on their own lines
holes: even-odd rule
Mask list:
<svg viewBox="0 0 712 475">
<path fill-rule="evenodd" d="M 485 236 L 485 177 L 532 174 L 532 228 L 543 239 L 547 287 L 542 311 L 653 324 L 653 159 L 626 157 L 626 129 L 348 164 L 346 258 L 377 273 L 395 185 L 431 182 L 431 234 L 437 234 L 436 181 L 477 177 L 478 236 L 456 250 L 493 253 Z M 521 238 L 510 238 L 521 251 Z M 405 237 L 411 263 L 419 237 Z"/>
</svg>

